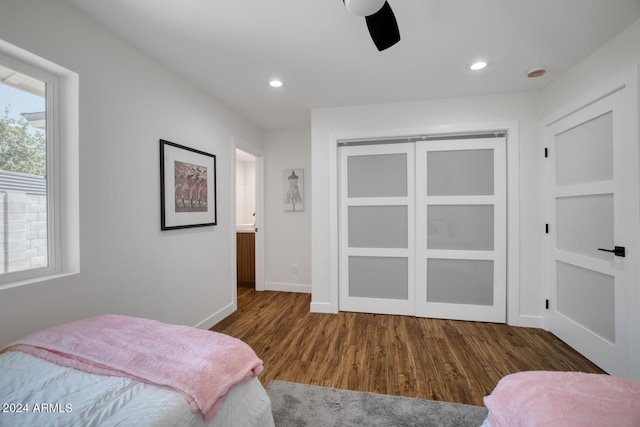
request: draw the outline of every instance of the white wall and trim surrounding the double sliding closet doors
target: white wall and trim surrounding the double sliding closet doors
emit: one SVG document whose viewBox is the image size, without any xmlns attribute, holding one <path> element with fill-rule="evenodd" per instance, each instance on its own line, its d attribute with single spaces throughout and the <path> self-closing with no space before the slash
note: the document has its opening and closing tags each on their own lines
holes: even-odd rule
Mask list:
<svg viewBox="0 0 640 427">
<path fill-rule="evenodd" d="M 337 310 L 337 271 L 331 253 L 330 186 L 335 183 L 335 159 L 330 145 L 335 135 L 374 136 L 411 134 L 416 129 L 432 133 L 486 128 L 492 123 L 517 122 L 520 141 L 520 274 L 514 324 L 541 324 L 541 177 L 539 99 L 536 93 L 519 93 L 422 102 L 318 109 L 312 112 L 312 311 Z M 333 224 L 335 227 L 336 225 Z M 333 263 L 333 264 L 332 264 Z M 516 279 L 518 280 L 518 279 Z"/>
</svg>

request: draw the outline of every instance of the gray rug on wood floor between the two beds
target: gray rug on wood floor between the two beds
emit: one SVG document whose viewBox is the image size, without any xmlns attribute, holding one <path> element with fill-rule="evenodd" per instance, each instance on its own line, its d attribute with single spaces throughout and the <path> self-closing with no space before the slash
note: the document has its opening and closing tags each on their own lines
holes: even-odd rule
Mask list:
<svg viewBox="0 0 640 427">
<path fill-rule="evenodd" d="M 286 381 L 267 386 L 276 427 L 438 426 L 479 427 L 481 406 L 436 402 Z"/>
</svg>

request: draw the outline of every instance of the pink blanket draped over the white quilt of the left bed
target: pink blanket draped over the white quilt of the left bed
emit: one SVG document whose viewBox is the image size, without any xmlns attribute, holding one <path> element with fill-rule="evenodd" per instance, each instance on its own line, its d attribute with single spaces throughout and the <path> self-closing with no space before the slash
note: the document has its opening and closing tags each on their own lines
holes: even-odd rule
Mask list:
<svg viewBox="0 0 640 427">
<path fill-rule="evenodd" d="M 132 378 L 181 393 L 205 421 L 235 384 L 260 374 L 262 361 L 228 335 L 121 315 L 67 323 L 9 344 L 82 371 Z"/>
</svg>

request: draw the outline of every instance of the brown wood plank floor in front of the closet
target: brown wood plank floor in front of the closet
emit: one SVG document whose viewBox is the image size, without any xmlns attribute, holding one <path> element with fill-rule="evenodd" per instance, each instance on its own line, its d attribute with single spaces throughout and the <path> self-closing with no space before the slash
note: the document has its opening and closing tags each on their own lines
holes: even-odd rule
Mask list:
<svg viewBox="0 0 640 427">
<path fill-rule="evenodd" d="M 273 380 L 482 405 L 503 376 L 602 371 L 552 334 L 504 324 L 309 312 L 310 295 L 238 288 L 211 330 L 248 343 Z"/>
</svg>

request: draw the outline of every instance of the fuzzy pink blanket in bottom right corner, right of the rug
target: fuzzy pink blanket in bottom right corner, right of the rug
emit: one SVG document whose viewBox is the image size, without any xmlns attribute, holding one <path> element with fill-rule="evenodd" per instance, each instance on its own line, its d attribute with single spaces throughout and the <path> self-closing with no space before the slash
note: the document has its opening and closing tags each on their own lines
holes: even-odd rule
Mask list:
<svg viewBox="0 0 640 427">
<path fill-rule="evenodd" d="M 638 427 L 640 382 L 580 372 L 502 378 L 484 398 L 492 427 Z"/>
</svg>

